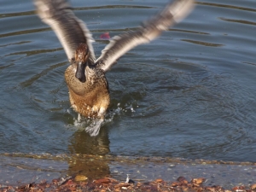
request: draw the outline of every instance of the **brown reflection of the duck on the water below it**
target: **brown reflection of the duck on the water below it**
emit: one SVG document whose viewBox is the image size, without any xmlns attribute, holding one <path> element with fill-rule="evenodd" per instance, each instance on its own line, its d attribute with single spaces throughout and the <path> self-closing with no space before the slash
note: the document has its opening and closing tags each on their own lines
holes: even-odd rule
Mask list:
<svg viewBox="0 0 256 192">
<path fill-rule="evenodd" d="M 68 146 L 71 154 L 99 154 L 105 155 L 109 153 L 108 130 L 102 127 L 102 131 L 98 137 L 90 137 L 84 131 L 76 131 Z M 73 174 L 80 172 L 86 177 L 99 178 L 110 174 L 108 160 L 95 160 L 78 158 L 68 162 L 68 172 Z"/>
</svg>

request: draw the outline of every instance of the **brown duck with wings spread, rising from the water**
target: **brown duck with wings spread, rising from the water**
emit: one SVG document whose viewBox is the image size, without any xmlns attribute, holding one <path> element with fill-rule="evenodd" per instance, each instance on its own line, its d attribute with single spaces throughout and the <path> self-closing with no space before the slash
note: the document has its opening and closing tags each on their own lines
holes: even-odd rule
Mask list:
<svg viewBox="0 0 256 192">
<path fill-rule="evenodd" d="M 92 37 L 64 0 L 34 0 L 41 20 L 51 26 L 61 41 L 70 61 L 65 79 L 71 105 L 84 117 L 104 119 L 110 102 L 105 73 L 120 56 L 139 44 L 157 38 L 161 32 L 189 14 L 194 0 L 176 0 L 168 3 L 158 15 L 140 26 L 137 31 L 113 37 L 96 60 Z"/>
</svg>

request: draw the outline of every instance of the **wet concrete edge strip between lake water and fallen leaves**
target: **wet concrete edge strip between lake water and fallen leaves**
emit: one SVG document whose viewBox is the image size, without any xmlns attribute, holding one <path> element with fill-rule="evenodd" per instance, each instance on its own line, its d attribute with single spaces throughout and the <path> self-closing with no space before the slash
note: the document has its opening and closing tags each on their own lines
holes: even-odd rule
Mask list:
<svg viewBox="0 0 256 192">
<path fill-rule="evenodd" d="M 86 177 L 86 180 L 83 181 L 85 183 L 82 183 L 86 191 L 88 184 L 89 186 L 95 186 L 96 189 L 98 184 L 94 181 L 98 179 L 103 179 L 102 181 L 105 182 L 107 182 L 106 179 L 111 179 L 110 182 L 107 182 L 108 184 L 103 185 L 108 186 L 108 188 L 113 187 L 115 190 L 114 186 L 117 184 L 125 187 L 122 183 L 125 183 L 126 174 L 129 174 L 130 178 L 135 181 L 135 184 L 129 186 L 126 183 L 126 188 L 130 187 L 133 190 L 138 187 L 137 183 L 141 184 L 141 186 L 144 186 L 144 183 L 147 183 L 146 185 L 149 183 L 150 186 L 156 183 L 156 186 L 161 190 L 166 186 L 171 186 L 172 188 L 170 189 L 175 189 L 176 191 L 183 191 L 187 188 L 189 190 L 208 190 L 209 187 L 218 186 L 220 191 L 224 189 L 233 191 L 232 189 L 236 188 L 234 191 L 246 191 L 256 183 L 256 163 L 253 162 L 113 155 L 20 153 L 0 154 L 0 160 L 0 184 L 2 186 L 0 191 L 8 187 L 15 189 L 19 186 L 30 185 L 34 185 L 34 188 L 44 185 L 58 189 L 58 186 L 53 181 L 68 177 L 70 177 L 67 179 L 70 180 L 69 183 L 73 183 L 80 189 L 80 183 L 75 182 L 76 176 Z M 180 183 L 180 181 L 177 181 L 179 177 L 183 177 L 186 182 Z M 204 178 L 205 180 L 199 186 L 195 186 L 195 183 L 192 182 L 195 178 Z M 172 186 L 175 183 L 177 186 Z M 67 185 L 65 185 L 65 188 L 70 187 L 69 184 Z M 239 189 L 238 186 L 243 187 L 239 187 L 241 188 Z M 214 188 L 214 190 L 217 191 L 217 188 Z"/>
</svg>

